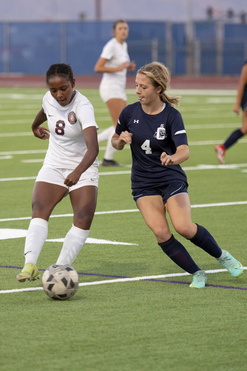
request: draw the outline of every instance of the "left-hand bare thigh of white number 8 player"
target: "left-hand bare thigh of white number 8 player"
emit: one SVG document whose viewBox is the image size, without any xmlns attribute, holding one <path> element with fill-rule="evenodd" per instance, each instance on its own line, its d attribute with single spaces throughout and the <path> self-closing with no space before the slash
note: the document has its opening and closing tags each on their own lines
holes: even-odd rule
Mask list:
<svg viewBox="0 0 247 371">
<path fill-rule="evenodd" d="M 61 185 L 43 181 L 35 182 L 32 196 L 32 217 L 48 220 L 54 207 L 66 193 L 67 188 Z"/>
</svg>

